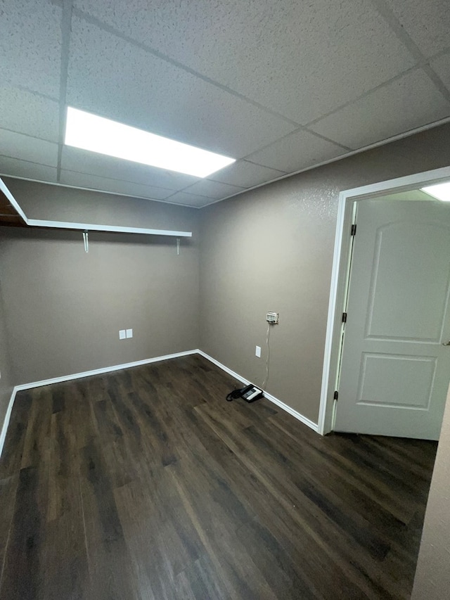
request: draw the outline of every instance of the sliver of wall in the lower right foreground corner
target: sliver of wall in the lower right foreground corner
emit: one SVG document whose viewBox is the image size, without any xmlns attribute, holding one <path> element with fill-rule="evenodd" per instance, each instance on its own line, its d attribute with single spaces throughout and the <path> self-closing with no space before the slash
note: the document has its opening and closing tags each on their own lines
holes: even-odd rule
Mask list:
<svg viewBox="0 0 450 600">
<path fill-rule="evenodd" d="M 450 388 L 428 496 L 412 600 L 446 600 L 450 594 Z"/>
</svg>

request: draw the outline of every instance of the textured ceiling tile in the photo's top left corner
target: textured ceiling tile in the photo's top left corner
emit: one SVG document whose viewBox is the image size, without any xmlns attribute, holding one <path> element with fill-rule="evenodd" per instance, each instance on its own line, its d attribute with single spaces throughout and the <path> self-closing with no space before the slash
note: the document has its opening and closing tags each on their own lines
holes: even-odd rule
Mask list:
<svg viewBox="0 0 450 600">
<path fill-rule="evenodd" d="M 0 8 L 0 81 L 58 98 L 60 6 L 50 0 L 13 0 Z"/>
</svg>

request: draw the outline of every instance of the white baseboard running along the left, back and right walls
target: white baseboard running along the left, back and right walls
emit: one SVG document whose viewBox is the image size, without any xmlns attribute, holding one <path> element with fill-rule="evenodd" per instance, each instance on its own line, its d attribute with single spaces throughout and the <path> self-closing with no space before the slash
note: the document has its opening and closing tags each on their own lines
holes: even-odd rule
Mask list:
<svg viewBox="0 0 450 600">
<path fill-rule="evenodd" d="M 222 369 L 222 371 L 225 371 L 226 373 L 228 373 L 229 375 L 231 375 L 238 381 L 245 383 L 245 385 L 249 385 L 249 383 L 251 383 L 250 381 L 248 381 L 248 379 L 245 379 L 245 377 L 239 375 L 235 371 L 231 371 L 231 369 L 229 369 L 228 366 L 221 364 L 221 362 L 210 357 L 210 355 L 207 355 L 205 352 L 203 352 L 203 350 L 198 350 L 198 349 L 186 350 L 186 352 L 176 352 L 175 354 L 172 354 L 172 355 L 158 356 L 158 357 L 148 358 L 148 359 L 144 359 L 144 360 L 136 360 L 134 362 L 127 362 L 124 364 L 115 364 L 113 366 L 105 366 L 105 367 L 103 367 L 103 369 L 93 369 L 92 371 L 83 371 L 82 373 L 74 373 L 72 375 L 63 375 L 60 377 L 53 377 L 51 379 L 42 379 L 41 381 L 31 381 L 30 383 L 21 383 L 20 385 L 15 385 L 15 388 L 13 389 L 13 392 L 11 393 L 11 398 L 8 403 L 8 409 L 6 409 L 5 419 L 4 419 L 3 425 L 1 427 L 1 432 L 0 432 L 0 457 L 1 457 L 1 452 L 3 451 L 3 447 L 4 447 L 4 443 L 5 443 L 5 439 L 6 439 L 6 431 L 8 430 L 9 420 L 11 419 L 11 411 L 13 410 L 15 395 L 17 394 L 17 392 L 20 392 L 21 390 L 31 390 L 32 388 L 40 388 L 42 385 L 51 385 L 51 383 L 63 383 L 64 381 L 71 381 L 72 379 L 81 379 L 82 377 L 90 377 L 91 375 L 102 375 L 104 373 L 110 373 L 111 371 L 120 371 L 120 369 L 130 369 L 133 366 L 141 366 L 142 364 L 150 364 L 152 362 L 160 362 L 162 360 L 169 360 L 172 358 L 179 358 L 179 357 L 193 355 L 193 354 L 198 354 L 200 356 L 203 356 L 204 358 L 206 358 L 207 360 L 209 360 L 210 362 L 212 362 L 213 364 L 218 366 L 219 369 Z M 318 431 L 317 423 L 313 423 L 312 421 L 307 419 L 306 416 L 303 416 L 302 414 L 300 414 L 300 412 L 297 412 L 296 410 L 294 410 L 293 408 L 288 406 L 288 404 L 281 402 L 281 400 L 278 400 L 278 398 L 269 394 L 268 392 L 264 392 L 264 397 L 266 397 L 267 400 L 270 400 L 270 402 L 274 402 L 274 404 L 276 404 L 278 407 L 285 410 L 289 414 L 292 414 L 292 416 L 294 416 L 295 419 L 298 419 L 298 421 L 302 421 L 302 423 L 304 423 L 305 425 L 310 427 L 312 430 L 314 430 L 316 432 Z"/>
</svg>

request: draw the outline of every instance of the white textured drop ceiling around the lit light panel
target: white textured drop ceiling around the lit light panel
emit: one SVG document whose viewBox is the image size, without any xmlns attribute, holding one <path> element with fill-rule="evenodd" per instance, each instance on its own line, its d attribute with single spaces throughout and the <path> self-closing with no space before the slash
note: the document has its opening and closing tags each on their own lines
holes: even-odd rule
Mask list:
<svg viewBox="0 0 450 600">
<path fill-rule="evenodd" d="M 201 208 L 450 118 L 447 0 L 5 0 L 0 174 Z M 236 158 L 63 145 L 66 106 Z"/>
</svg>

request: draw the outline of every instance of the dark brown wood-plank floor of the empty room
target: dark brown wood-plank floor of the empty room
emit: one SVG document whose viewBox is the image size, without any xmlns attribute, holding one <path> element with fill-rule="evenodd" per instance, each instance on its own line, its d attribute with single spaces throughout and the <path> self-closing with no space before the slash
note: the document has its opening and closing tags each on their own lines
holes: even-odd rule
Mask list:
<svg viewBox="0 0 450 600">
<path fill-rule="evenodd" d="M 234 384 L 193 355 L 20 392 L 1 600 L 409 598 L 436 444 L 321 438 Z"/>
</svg>

